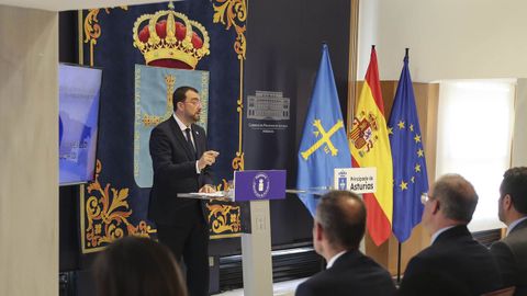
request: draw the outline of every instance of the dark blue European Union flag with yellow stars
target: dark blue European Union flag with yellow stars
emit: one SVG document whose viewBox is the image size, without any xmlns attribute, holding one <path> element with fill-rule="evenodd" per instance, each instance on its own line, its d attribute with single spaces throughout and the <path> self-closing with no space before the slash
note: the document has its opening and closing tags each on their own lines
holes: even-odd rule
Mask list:
<svg viewBox="0 0 527 296">
<path fill-rule="evenodd" d="M 388 126 L 393 158 L 392 228 L 397 240 L 403 242 L 421 221 L 421 195 L 428 192 L 426 160 L 407 54 Z"/>
</svg>

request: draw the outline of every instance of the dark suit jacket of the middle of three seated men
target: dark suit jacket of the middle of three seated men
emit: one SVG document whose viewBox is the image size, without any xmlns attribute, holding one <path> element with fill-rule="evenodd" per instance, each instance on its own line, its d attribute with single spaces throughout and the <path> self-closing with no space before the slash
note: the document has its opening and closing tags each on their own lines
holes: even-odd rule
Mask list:
<svg viewBox="0 0 527 296">
<path fill-rule="evenodd" d="M 435 288 L 446 288 L 459 295 L 481 295 L 501 287 L 491 252 L 472 238 L 467 226 L 456 226 L 412 258 L 399 294 L 430 295 Z"/>
</svg>

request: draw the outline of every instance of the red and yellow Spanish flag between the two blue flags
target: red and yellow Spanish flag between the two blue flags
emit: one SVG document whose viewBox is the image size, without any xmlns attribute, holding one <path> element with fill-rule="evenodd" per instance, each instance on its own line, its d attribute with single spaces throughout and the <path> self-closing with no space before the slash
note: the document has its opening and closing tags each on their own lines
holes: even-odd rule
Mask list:
<svg viewBox="0 0 527 296">
<path fill-rule="evenodd" d="M 349 135 L 354 168 L 377 168 L 377 192 L 363 194 L 367 228 L 379 246 L 392 232 L 393 167 L 374 46 Z"/>
</svg>

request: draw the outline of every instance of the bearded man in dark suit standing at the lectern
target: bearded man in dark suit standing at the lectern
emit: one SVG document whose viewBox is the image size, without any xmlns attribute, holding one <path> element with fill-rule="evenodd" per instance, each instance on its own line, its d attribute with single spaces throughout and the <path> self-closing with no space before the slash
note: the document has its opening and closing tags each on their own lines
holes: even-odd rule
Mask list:
<svg viewBox="0 0 527 296">
<path fill-rule="evenodd" d="M 200 119 L 201 101 L 195 89 L 173 92 L 173 116 L 152 130 L 150 156 L 154 185 L 148 218 L 157 225 L 157 236 L 176 259 L 184 261 L 191 296 L 209 294 L 209 226 L 204 205 L 199 200 L 178 197 L 178 193 L 213 192 L 209 166 L 216 151 L 206 151 L 205 130 Z"/>
</svg>

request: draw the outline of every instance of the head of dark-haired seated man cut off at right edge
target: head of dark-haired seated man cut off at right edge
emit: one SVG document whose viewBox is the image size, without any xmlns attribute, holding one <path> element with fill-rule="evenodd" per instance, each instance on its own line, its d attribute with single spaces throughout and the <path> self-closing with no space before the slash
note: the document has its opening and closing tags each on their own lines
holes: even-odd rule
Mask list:
<svg viewBox="0 0 527 296">
<path fill-rule="evenodd" d="M 527 216 L 527 167 L 512 168 L 500 185 L 498 217 L 509 226 Z"/>
</svg>

